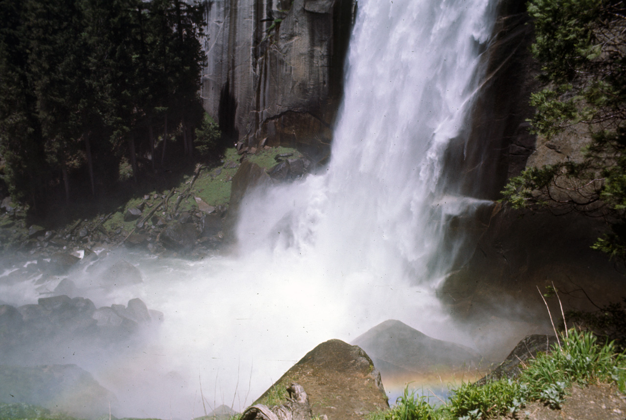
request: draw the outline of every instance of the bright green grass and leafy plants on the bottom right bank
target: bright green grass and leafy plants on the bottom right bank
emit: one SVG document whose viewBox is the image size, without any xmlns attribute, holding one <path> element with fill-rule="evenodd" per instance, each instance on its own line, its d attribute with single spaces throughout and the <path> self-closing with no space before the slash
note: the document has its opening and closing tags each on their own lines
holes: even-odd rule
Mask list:
<svg viewBox="0 0 626 420">
<path fill-rule="evenodd" d="M 573 384 L 616 384 L 626 393 L 626 356 L 615 352 L 612 342 L 598 344 L 589 332 L 570 330 L 562 347 L 540 354 L 518 379 L 501 379 L 475 386 L 468 382 L 453 390 L 449 401 L 433 407 L 424 397 L 404 389 L 396 405 L 372 412 L 367 420 L 478 420 L 514 414 L 529 401 L 542 401 L 560 408 Z"/>
</svg>

